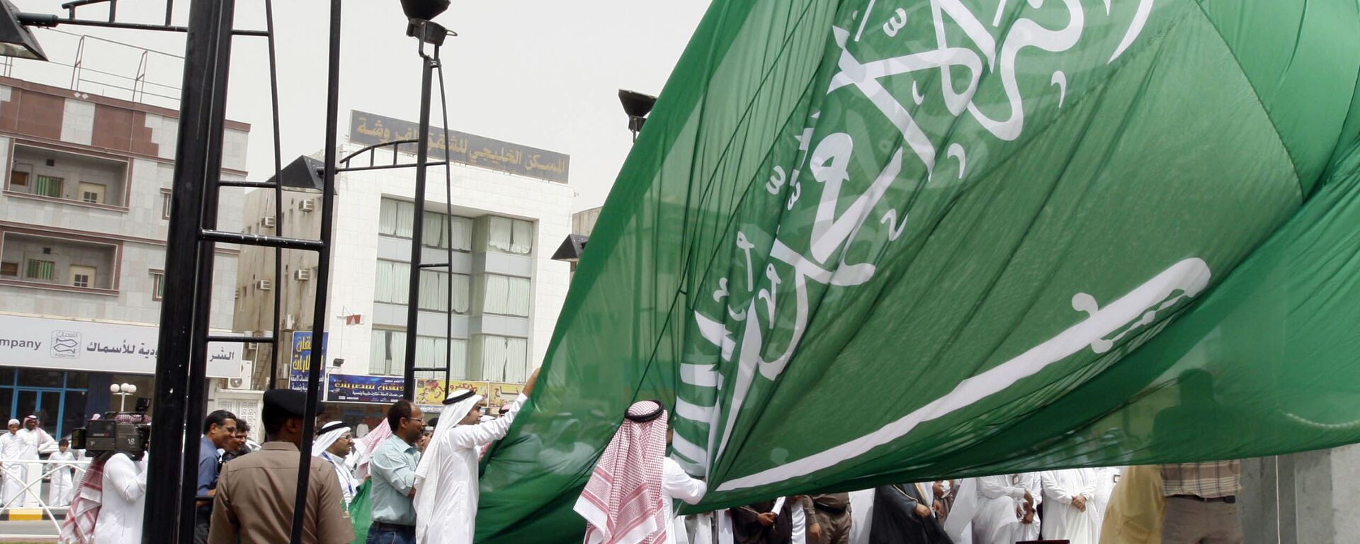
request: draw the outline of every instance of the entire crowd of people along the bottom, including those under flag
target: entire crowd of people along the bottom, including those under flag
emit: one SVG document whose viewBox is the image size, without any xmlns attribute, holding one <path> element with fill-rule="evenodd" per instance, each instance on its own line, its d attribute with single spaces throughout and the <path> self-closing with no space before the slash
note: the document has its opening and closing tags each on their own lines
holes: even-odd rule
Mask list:
<svg viewBox="0 0 1360 544">
<path fill-rule="evenodd" d="M 393 403 L 362 439 L 344 422 L 313 441 L 302 537 L 320 544 L 471 544 L 479 502 L 477 462 L 506 435 L 537 382 L 491 416 L 487 400 L 453 390 L 441 418 Z M 303 442 L 306 394 L 264 396 L 265 442 L 227 411 L 207 416 L 197 465 L 196 544 L 290 540 Z M 320 413 L 316 407 L 314 413 Z M 150 424 L 146 416 L 117 415 Z M 122 419 L 126 419 L 124 422 Z M 575 503 L 585 541 L 676 544 L 1072 544 L 1242 543 L 1238 461 L 1078 468 L 778 498 L 676 515 L 707 486 L 666 456 L 672 432 L 658 401 L 622 415 Z M 50 452 L 48 468 L 39 453 Z M 49 505 L 69 503 L 63 543 L 140 541 L 147 454 L 103 453 L 73 472 L 83 452 L 54 441 L 35 416 L 0 435 L 0 495 L 7 507 L 37 500 L 44 472 Z M 79 480 L 79 486 L 75 484 Z M 31 499 L 30 499 L 31 495 Z"/>
</svg>

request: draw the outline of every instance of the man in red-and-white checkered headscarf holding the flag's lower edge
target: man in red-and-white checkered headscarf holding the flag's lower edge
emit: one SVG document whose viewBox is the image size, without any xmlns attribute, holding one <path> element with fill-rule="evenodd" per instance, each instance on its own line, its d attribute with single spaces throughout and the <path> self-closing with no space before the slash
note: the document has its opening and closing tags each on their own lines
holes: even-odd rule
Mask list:
<svg viewBox="0 0 1360 544">
<path fill-rule="evenodd" d="M 628 408 L 575 505 L 586 518 L 586 544 L 681 543 L 670 505 L 675 499 L 698 503 L 707 486 L 665 457 L 668 439 L 661 403 Z"/>
</svg>

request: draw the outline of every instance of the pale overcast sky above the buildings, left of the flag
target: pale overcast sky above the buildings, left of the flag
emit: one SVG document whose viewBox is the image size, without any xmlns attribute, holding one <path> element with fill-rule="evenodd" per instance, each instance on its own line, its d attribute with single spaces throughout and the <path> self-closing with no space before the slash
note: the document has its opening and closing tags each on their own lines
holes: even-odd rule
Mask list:
<svg viewBox="0 0 1360 544">
<path fill-rule="evenodd" d="M 16 4 L 23 11 L 60 12 L 52 0 Z M 177 4 L 175 24 L 185 24 L 189 3 Z M 704 0 L 454 0 L 435 19 L 460 34 L 449 38 L 442 53 L 449 125 L 571 155 L 570 184 L 578 194 L 574 209 L 600 205 L 631 141 L 617 90 L 658 94 L 707 5 Z M 284 162 L 322 147 L 328 7 L 324 0 L 275 1 Z M 84 10 L 78 12 L 80 18 L 107 16 L 103 7 Z M 163 14 L 163 0 L 118 3 L 118 19 L 124 22 L 158 23 Z M 238 29 L 264 24 L 262 0 L 237 3 Z M 75 26 L 57 30 L 184 54 L 182 34 Z M 345 1 L 343 33 L 341 136 L 351 109 L 415 121 L 420 112 L 420 60 L 413 38 L 405 37 L 398 1 Z M 48 30 L 35 34 L 53 61 L 72 64 L 78 38 Z M 267 54 L 264 38 L 235 38 L 227 103 L 228 118 L 252 125 L 250 177 L 261 181 L 273 170 Z M 139 63 L 136 49 L 87 41 L 82 64 L 132 76 Z M 177 97 L 177 91 L 156 83 L 178 87 L 180 60 L 151 54 L 147 64 L 147 91 Z M 65 87 L 72 69 L 19 60 L 12 76 Z M 129 98 L 128 91 L 101 84 L 128 86 L 126 80 L 94 72 L 84 72 L 82 79 L 95 80 L 80 83 L 87 92 Z M 431 118 L 438 125 L 435 88 Z M 167 105 L 155 97 L 147 102 Z"/>
</svg>

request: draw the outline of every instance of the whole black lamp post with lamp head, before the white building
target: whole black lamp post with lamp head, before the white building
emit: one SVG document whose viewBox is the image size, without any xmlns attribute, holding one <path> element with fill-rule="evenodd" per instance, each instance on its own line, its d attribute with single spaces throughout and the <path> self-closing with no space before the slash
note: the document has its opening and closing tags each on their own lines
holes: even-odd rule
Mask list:
<svg viewBox="0 0 1360 544">
<path fill-rule="evenodd" d="M 416 38 L 423 69 L 420 72 L 420 129 L 416 143 L 416 201 L 415 219 L 411 226 L 411 284 L 407 291 L 407 360 L 403 373 L 403 397 L 415 400 L 416 394 L 416 330 L 420 320 L 420 262 L 424 248 L 424 200 L 426 200 L 426 171 L 428 170 L 430 152 L 430 87 L 435 67 L 439 65 L 439 46 L 449 35 L 449 30 L 435 23 L 434 19 L 449 8 L 449 0 L 401 0 L 401 11 L 407 15 L 407 35 Z M 426 53 L 430 45 L 432 54 Z M 445 264 L 449 265 L 447 262 Z"/>
</svg>

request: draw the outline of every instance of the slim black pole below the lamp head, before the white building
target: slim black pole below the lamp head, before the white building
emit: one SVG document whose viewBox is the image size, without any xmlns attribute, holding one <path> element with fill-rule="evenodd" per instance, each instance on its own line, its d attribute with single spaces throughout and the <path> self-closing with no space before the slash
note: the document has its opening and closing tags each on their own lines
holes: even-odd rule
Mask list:
<svg viewBox="0 0 1360 544">
<path fill-rule="evenodd" d="M 424 248 L 424 197 L 426 197 L 426 171 L 428 170 L 428 159 L 426 155 L 430 152 L 430 86 L 434 78 L 435 57 L 427 56 L 424 53 L 424 26 L 431 24 L 430 22 L 420 23 L 418 30 L 418 38 L 420 42 L 420 61 L 423 69 L 420 72 L 420 141 L 416 143 L 416 214 L 411 224 L 411 284 L 408 286 L 407 295 L 407 360 L 405 360 L 405 384 L 401 389 L 403 398 L 415 400 L 416 397 L 416 322 L 420 318 L 420 252 Z M 439 46 L 434 46 L 439 50 Z M 435 53 L 438 56 L 438 53 Z"/>
</svg>

